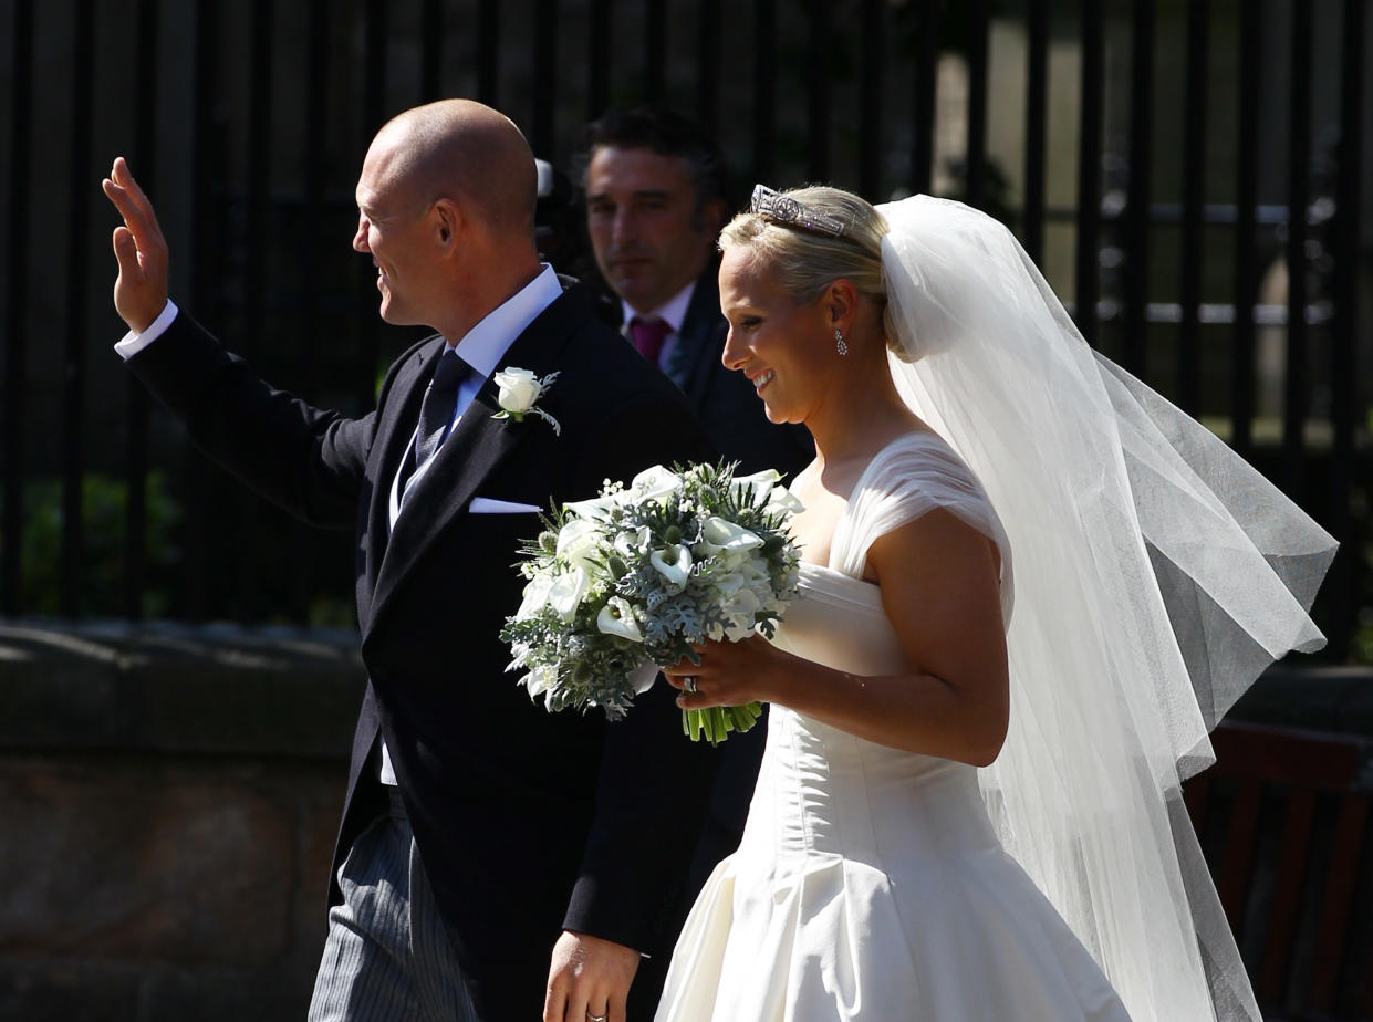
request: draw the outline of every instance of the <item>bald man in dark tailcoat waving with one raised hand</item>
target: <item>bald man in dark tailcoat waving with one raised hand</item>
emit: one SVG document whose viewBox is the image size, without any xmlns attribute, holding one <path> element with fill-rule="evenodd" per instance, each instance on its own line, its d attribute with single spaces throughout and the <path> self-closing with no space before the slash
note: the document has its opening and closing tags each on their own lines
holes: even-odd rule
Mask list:
<svg viewBox="0 0 1373 1022">
<path fill-rule="evenodd" d="M 129 369 L 249 486 L 357 535 L 369 680 L 310 1018 L 648 1018 L 658 990 L 632 981 L 643 955 L 670 953 L 713 757 L 682 738 L 662 682 L 615 724 L 545 712 L 505 674 L 498 632 L 551 498 L 713 451 L 595 296 L 540 263 L 523 136 L 446 100 L 372 141 L 353 247 L 378 269 L 382 318 L 437 333 L 391 365 L 362 418 L 270 388 L 180 311 L 122 159 L 103 187 L 124 217 Z M 496 417 L 505 368 L 557 375 L 538 398 L 557 428 Z"/>
</svg>

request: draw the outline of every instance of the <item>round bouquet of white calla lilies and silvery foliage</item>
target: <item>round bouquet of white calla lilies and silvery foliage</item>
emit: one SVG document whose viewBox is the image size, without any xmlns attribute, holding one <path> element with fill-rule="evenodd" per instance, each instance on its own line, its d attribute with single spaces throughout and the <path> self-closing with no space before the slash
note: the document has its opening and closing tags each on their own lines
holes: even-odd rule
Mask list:
<svg viewBox="0 0 1373 1022">
<path fill-rule="evenodd" d="M 772 638 L 796 597 L 799 561 L 784 530 L 800 502 L 780 479 L 655 465 L 545 517 L 520 551 L 523 604 L 501 630 L 530 698 L 542 694 L 549 712 L 600 706 L 615 720 L 659 667 L 700 663 L 691 643 Z M 684 711 L 682 730 L 718 744 L 761 712 L 757 702 Z"/>
</svg>

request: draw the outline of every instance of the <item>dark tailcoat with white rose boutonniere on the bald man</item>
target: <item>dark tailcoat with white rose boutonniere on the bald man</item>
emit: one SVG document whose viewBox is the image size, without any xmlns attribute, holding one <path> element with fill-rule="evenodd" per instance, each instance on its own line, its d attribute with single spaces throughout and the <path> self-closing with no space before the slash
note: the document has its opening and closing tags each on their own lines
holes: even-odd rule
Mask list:
<svg viewBox="0 0 1373 1022">
<path fill-rule="evenodd" d="M 384 734 L 415 840 L 483 1019 L 542 1008 L 563 929 L 666 960 L 714 760 L 685 741 L 659 682 L 629 717 L 531 704 L 498 641 L 520 604 L 512 571 L 533 513 L 471 514 L 475 495 L 548 508 L 627 482 L 654 462 L 713 458 L 681 394 L 564 291 L 503 365 L 560 376 L 535 417 L 498 421 L 487 381 L 416 483 L 394 531 L 393 476 L 443 350 L 435 336 L 391 366 L 376 410 L 349 420 L 273 391 L 188 316 L 130 369 L 196 443 L 306 521 L 353 527 L 369 683 L 358 717 L 336 867 L 383 809 Z M 655 428 L 643 424 L 652 420 Z M 339 897 L 331 885 L 331 899 Z M 651 1006 L 656 990 L 636 984 Z M 638 1018 L 640 1015 L 633 1015 Z M 645 1015 L 647 1017 L 647 1015 Z"/>
</svg>

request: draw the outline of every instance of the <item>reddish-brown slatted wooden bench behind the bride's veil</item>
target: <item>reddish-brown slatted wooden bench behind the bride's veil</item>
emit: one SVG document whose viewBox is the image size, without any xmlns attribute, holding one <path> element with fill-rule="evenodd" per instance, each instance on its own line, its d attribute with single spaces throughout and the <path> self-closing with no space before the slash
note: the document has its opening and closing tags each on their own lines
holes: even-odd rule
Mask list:
<svg viewBox="0 0 1373 1022">
<path fill-rule="evenodd" d="M 1184 785 L 1270 1022 L 1373 1019 L 1373 741 L 1221 724 Z"/>
</svg>

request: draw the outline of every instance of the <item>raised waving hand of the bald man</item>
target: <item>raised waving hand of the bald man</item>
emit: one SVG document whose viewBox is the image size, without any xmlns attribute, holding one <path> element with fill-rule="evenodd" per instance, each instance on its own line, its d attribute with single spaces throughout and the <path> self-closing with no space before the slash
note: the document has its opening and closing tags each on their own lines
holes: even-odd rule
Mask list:
<svg viewBox="0 0 1373 1022">
<path fill-rule="evenodd" d="M 114 229 L 114 258 L 119 261 L 114 310 L 129 329 L 141 333 L 168 303 L 168 243 L 152 203 L 133 180 L 124 156 L 115 156 L 114 169 L 100 187 L 124 217 L 124 224 Z"/>
</svg>

